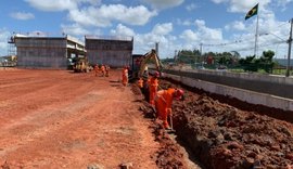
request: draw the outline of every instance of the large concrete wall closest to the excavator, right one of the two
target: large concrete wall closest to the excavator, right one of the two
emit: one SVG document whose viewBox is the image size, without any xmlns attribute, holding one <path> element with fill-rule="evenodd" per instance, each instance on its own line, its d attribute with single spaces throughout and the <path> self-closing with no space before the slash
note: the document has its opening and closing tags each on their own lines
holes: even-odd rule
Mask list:
<svg viewBox="0 0 293 169">
<path fill-rule="evenodd" d="M 90 64 L 123 67 L 131 64 L 133 41 L 86 38 L 86 49 Z"/>
</svg>

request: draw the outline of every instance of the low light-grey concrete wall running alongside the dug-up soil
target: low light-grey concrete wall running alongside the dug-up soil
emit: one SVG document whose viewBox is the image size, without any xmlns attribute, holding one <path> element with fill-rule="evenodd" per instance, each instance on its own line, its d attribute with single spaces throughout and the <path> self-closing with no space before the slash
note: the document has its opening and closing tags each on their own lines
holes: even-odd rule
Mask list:
<svg viewBox="0 0 293 169">
<path fill-rule="evenodd" d="M 293 110 L 293 100 L 279 98 L 271 94 L 265 94 L 259 92 L 254 92 L 250 90 L 243 90 L 239 88 L 228 87 L 224 84 L 218 84 L 214 82 L 203 81 L 200 79 L 193 79 L 189 77 L 182 77 L 178 75 L 164 74 L 164 77 L 171 78 L 174 80 L 180 81 L 189 87 L 194 87 L 208 91 L 211 93 L 229 95 L 241 101 L 245 101 L 252 104 L 260 104 L 268 107 L 276 107 L 284 110 Z"/>
</svg>

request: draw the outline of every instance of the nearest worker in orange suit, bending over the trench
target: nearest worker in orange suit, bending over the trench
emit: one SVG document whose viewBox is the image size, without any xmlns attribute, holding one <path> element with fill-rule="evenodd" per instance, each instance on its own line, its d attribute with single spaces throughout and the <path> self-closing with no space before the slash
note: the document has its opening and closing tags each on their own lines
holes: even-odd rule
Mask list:
<svg viewBox="0 0 293 169">
<path fill-rule="evenodd" d="M 180 100 L 183 96 L 183 90 L 169 88 L 167 90 L 161 90 L 155 96 L 155 109 L 158 119 L 163 120 L 163 127 L 170 129 L 168 123 L 168 116 L 171 116 L 173 100 Z"/>
</svg>

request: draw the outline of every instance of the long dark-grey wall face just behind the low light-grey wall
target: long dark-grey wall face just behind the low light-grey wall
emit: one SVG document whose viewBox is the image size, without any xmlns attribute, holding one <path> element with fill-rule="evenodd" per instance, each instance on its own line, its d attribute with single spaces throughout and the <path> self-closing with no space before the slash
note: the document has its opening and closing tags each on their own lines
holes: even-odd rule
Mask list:
<svg viewBox="0 0 293 169">
<path fill-rule="evenodd" d="M 293 78 L 257 74 L 237 74 L 212 70 L 176 70 L 165 69 L 167 74 L 209 81 L 243 90 L 293 99 Z"/>
</svg>

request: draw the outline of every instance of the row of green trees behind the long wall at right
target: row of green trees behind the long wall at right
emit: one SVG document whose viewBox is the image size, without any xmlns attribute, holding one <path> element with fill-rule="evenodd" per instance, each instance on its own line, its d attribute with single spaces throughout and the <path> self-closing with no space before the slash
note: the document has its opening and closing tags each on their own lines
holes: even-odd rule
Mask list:
<svg viewBox="0 0 293 169">
<path fill-rule="evenodd" d="M 199 50 L 182 50 L 178 52 L 178 55 L 175 58 L 165 58 L 162 60 L 163 63 L 175 63 L 175 64 L 190 64 L 199 65 L 203 64 L 206 68 L 217 68 L 219 65 L 227 66 L 229 68 L 235 69 L 237 72 L 265 72 L 272 73 L 273 66 L 277 65 L 272 61 L 275 56 L 273 51 L 264 51 L 263 55 L 259 58 L 253 56 L 246 56 L 241 58 L 240 54 L 237 51 L 214 53 L 207 52 L 201 55 Z M 213 64 L 207 64 L 207 58 L 213 57 Z"/>
</svg>

